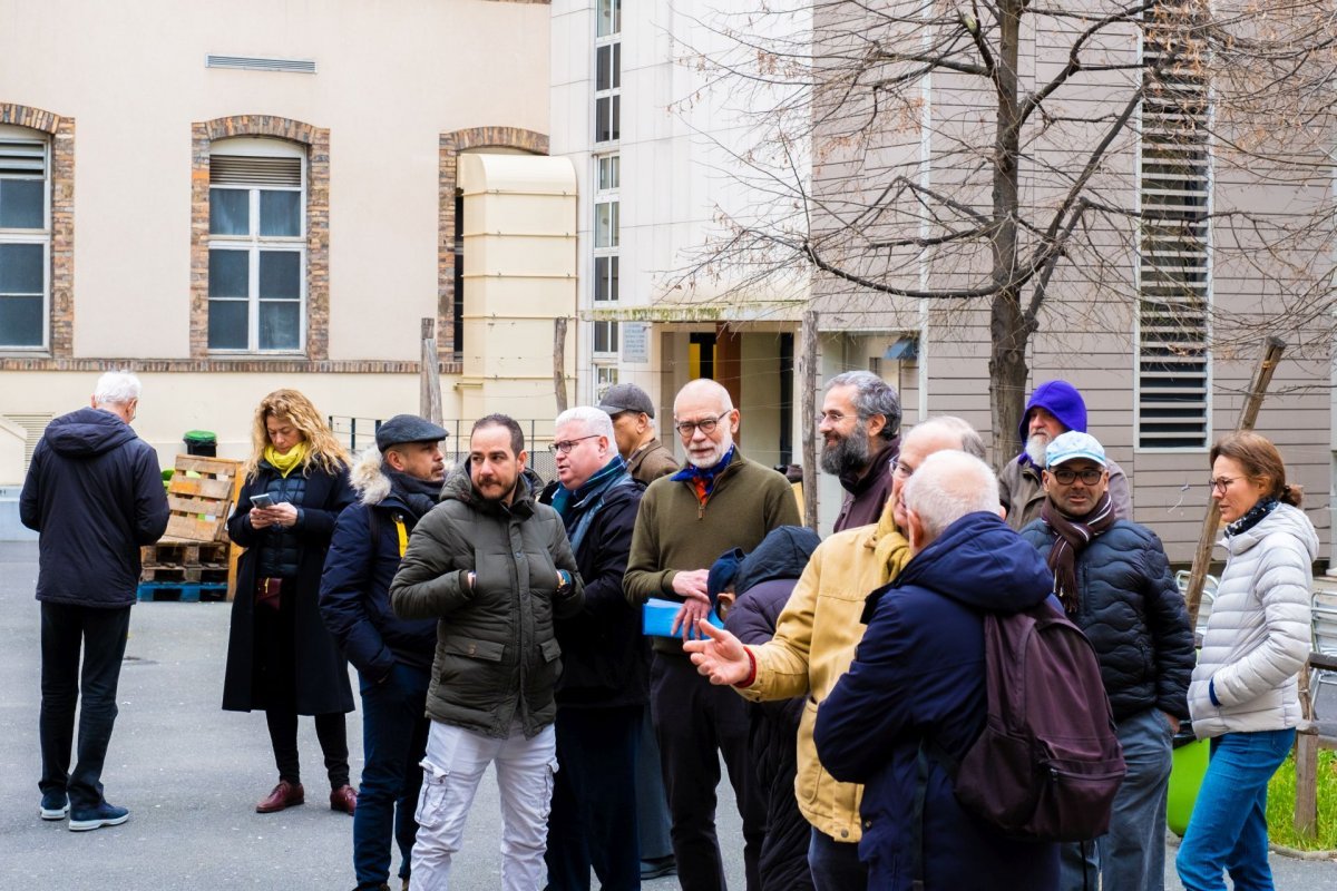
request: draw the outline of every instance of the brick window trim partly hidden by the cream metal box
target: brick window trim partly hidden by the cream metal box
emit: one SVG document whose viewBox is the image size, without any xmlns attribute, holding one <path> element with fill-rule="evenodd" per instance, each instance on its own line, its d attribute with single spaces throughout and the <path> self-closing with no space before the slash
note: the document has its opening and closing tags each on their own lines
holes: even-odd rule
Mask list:
<svg viewBox="0 0 1337 891">
<path fill-rule="evenodd" d="M 461 363 L 452 361 L 455 355 L 455 192 L 460 186 L 460 154 L 479 148 L 519 148 L 532 155 L 547 155 L 548 136 L 520 127 L 469 127 L 441 134 L 436 251 L 436 341 L 440 345 L 441 355 L 447 357 L 443 369 L 449 367 L 453 373 L 459 373 L 461 367 Z"/>
</svg>

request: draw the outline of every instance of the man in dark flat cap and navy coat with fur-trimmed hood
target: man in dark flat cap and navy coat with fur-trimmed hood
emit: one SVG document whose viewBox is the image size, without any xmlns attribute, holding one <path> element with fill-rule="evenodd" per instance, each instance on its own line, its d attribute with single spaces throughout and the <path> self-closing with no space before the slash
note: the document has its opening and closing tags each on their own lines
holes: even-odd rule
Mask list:
<svg viewBox="0 0 1337 891">
<path fill-rule="evenodd" d="M 392 839 L 406 882 L 417 835 L 436 621 L 396 618 L 390 580 L 413 526 L 436 506 L 445 437 L 443 427 L 412 414 L 381 425 L 376 448 L 350 473 L 361 498 L 338 516 L 321 577 L 321 616 L 361 680 L 364 765 L 353 814 L 358 888 L 385 887 Z"/>
</svg>

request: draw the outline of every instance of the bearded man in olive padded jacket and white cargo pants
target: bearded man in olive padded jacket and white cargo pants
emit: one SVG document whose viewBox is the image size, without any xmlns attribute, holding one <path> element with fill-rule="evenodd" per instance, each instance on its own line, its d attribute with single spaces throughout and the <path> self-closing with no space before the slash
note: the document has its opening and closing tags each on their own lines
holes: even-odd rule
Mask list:
<svg viewBox="0 0 1337 891">
<path fill-rule="evenodd" d="M 562 673 L 552 621 L 580 610 L 584 588 L 562 518 L 529 496 L 524 461 L 512 418 L 475 423 L 467 473 L 447 480 L 390 584 L 397 616 L 439 621 L 413 891 L 448 887 L 491 763 L 501 791 L 501 887 L 544 884 L 558 767 L 552 693 Z"/>
</svg>

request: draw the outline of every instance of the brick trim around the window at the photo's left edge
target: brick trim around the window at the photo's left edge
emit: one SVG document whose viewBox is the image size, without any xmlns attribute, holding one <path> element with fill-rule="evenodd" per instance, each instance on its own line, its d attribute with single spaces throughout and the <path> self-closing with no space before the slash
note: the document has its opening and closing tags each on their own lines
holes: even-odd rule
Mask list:
<svg viewBox="0 0 1337 891">
<path fill-rule="evenodd" d="M 74 355 L 75 330 L 75 119 L 32 106 L 0 102 L 0 124 L 36 130 L 51 138 L 51 299 L 47 354 L 29 362 Z"/>
</svg>

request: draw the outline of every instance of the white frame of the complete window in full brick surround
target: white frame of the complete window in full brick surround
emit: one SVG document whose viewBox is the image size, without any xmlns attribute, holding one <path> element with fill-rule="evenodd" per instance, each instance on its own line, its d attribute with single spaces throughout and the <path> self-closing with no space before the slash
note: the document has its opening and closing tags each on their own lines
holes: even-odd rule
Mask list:
<svg viewBox="0 0 1337 891">
<path fill-rule="evenodd" d="M 214 347 L 209 351 L 215 355 L 305 355 L 306 353 L 306 313 L 308 313 L 308 259 L 306 259 L 306 232 L 309 220 L 306 219 L 306 190 L 310 183 L 306 150 L 297 144 L 278 139 L 221 139 L 210 146 L 213 155 L 249 155 L 253 158 L 297 158 L 302 164 L 301 186 L 297 188 L 287 186 L 213 186 L 209 187 L 210 200 L 215 188 L 233 191 L 246 190 L 249 192 L 249 220 L 250 232 L 247 235 L 209 235 L 209 251 L 233 250 L 247 252 L 247 295 L 245 298 L 209 297 L 210 307 L 218 302 L 246 302 L 246 346 L 245 347 Z M 259 234 L 259 194 L 262 191 L 297 192 L 299 232 L 297 235 L 261 235 Z M 259 256 L 262 252 L 291 252 L 298 255 L 298 330 L 297 346 L 281 349 L 259 349 Z"/>
</svg>

